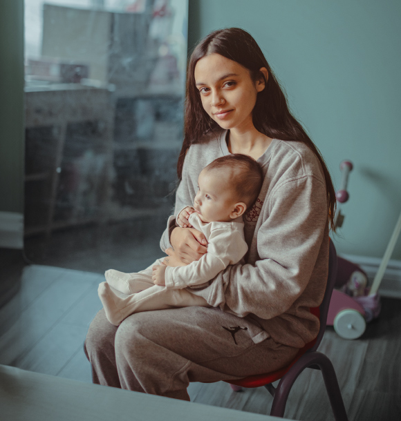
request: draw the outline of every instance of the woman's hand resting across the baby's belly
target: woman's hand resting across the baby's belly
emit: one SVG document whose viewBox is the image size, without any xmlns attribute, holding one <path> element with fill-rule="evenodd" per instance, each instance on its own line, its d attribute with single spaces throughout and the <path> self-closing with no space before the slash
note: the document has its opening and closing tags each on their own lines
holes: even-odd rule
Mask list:
<svg viewBox="0 0 401 421">
<path fill-rule="evenodd" d="M 205 235 L 195 228 L 176 227 L 170 235 L 171 246 L 186 264 L 190 264 L 207 253 L 207 241 Z"/>
</svg>

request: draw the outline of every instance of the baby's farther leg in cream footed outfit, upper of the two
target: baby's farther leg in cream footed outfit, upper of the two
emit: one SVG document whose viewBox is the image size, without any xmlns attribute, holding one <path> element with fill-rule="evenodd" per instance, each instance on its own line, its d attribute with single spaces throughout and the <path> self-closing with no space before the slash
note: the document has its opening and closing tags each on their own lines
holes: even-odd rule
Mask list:
<svg viewBox="0 0 401 421">
<path fill-rule="evenodd" d="M 156 260 L 144 271 L 138 273 L 124 273 L 109 269 L 109 271 L 104 273 L 104 277 L 106 277 L 107 283 L 117 291 L 127 295 L 135 294 L 154 285 L 152 281 L 152 267 L 162 264 L 163 259 L 164 257 Z"/>
</svg>

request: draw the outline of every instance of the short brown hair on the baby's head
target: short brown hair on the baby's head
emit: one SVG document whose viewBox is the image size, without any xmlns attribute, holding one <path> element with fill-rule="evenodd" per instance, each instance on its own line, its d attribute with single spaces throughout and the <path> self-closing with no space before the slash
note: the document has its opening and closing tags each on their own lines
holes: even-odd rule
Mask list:
<svg viewBox="0 0 401 421">
<path fill-rule="evenodd" d="M 261 166 L 252 157 L 242 153 L 233 153 L 214 159 L 205 170 L 231 170 L 230 182 L 240 202 L 246 204 L 247 210 L 256 201 L 263 184 Z"/>
</svg>

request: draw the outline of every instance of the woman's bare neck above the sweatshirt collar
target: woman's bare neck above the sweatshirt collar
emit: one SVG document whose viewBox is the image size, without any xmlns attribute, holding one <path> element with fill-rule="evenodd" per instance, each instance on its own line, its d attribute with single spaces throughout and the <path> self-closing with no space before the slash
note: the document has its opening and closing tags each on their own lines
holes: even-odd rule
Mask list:
<svg viewBox="0 0 401 421">
<path fill-rule="evenodd" d="M 243 153 L 258 159 L 265 153 L 272 139 L 263 133 L 258 132 L 256 128 L 240 132 L 239 130 L 230 130 L 227 136 L 227 148 L 230 153 Z"/>
</svg>

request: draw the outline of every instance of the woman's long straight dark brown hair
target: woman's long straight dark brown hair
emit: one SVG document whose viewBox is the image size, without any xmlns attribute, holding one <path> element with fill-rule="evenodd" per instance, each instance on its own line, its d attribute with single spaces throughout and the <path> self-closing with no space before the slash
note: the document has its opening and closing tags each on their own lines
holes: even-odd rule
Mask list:
<svg viewBox="0 0 401 421">
<path fill-rule="evenodd" d="M 268 61 L 252 36 L 241 28 L 215 30 L 205 37 L 194 49 L 187 68 L 187 92 L 185 97 L 184 142 L 178 157 L 177 173 L 181 179 L 185 154 L 189 146 L 201 141 L 203 135 L 220 127 L 207 115 L 201 103 L 201 96 L 195 85 L 195 66 L 199 59 L 217 53 L 227 59 L 236 61 L 250 70 L 254 81 L 264 78 L 259 71 L 264 67 L 268 70 L 268 81 L 265 89 L 258 93 L 257 102 L 252 111 L 253 124 L 260 133 L 273 139 L 300 141 L 306 144 L 317 156 L 326 179 L 328 200 L 328 218 L 330 228 L 335 231 L 335 190 L 326 163 L 304 128 L 291 114 L 286 95 L 279 81 L 274 76 Z"/>
</svg>

